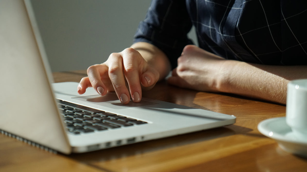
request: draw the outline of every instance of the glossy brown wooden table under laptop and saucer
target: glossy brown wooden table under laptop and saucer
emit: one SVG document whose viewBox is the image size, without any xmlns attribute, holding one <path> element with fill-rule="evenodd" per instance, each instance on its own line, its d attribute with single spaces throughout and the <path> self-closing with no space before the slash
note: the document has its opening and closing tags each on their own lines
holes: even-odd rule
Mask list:
<svg viewBox="0 0 307 172">
<path fill-rule="evenodd" d="M 85 71 L 54 73 L 55 82 L 79 82 Z M 0 171 L 307 171 L 307 159 L 283 151 L 257 130 L 286 107 L 229 94 L 158 83 L 143 96 L 235 115 L 234 125 L 82 154 L 52 154 L 0 134 Z"/>
</svg>

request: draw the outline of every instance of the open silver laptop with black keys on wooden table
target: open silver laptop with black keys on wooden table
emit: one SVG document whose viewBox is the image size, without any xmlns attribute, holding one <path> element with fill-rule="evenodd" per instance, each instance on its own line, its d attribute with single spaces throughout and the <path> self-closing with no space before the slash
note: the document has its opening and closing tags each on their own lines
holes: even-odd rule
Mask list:
<svg viewBox="0 0 307 172">
<path fill-rule="evenodd" d="M 30 1 L 0 1 L 0 132 L 39 148 L 82 153 L 231 125 L 235 117 L 53 83 Z"/>
</svg>

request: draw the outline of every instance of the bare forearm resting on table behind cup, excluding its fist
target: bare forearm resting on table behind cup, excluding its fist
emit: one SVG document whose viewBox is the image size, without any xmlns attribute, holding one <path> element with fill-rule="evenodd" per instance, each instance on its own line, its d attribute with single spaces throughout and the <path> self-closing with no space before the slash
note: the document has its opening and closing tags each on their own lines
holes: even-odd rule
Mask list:
<svg viewBox="0 0 307 172">
<path fill-rule="evenodd" d="M 286 104 L 290 80 L 307 78 L 307 66 L 272 66 L 227 60 L 221 92 Z"/>
</svg>

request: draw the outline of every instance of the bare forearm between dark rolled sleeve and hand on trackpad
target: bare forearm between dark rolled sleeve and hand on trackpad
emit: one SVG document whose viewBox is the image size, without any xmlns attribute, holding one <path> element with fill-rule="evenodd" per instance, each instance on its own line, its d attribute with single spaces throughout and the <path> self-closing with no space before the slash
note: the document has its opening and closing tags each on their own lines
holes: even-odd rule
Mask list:
<svg viewBox="0 0 307 172">
<path fill-rule="evenodd" d="M 171 65 L 167 56 L 159 48 L 146 42 L 134 43 L 131 48 L 137 50 L 146 62 L 159 72 L 159 80 L 168 75 Z"/>
</svg>

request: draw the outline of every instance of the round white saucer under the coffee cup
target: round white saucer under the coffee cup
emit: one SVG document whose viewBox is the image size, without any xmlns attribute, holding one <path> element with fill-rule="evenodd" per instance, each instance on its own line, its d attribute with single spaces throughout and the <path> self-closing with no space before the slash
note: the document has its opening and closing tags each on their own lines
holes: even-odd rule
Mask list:
<svg viewBox="0 0 307 172">
<path fill-rule="evenodd" d="M 263 135 L 278 142 L 287 152 L 307 157 L 307 138 L 297 138 L 286 124 L 286 117 L 271 118 L 258 124 L 258 130 Z"/>
</svg>

